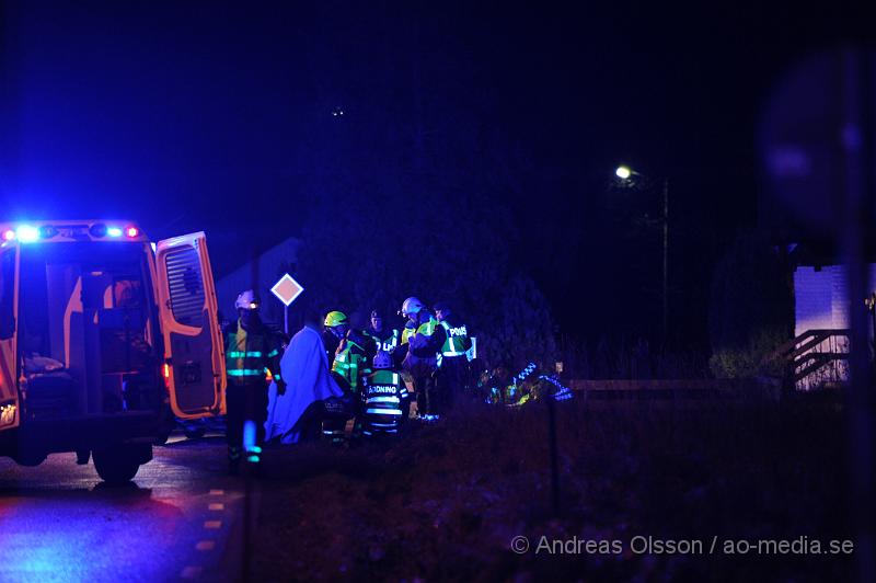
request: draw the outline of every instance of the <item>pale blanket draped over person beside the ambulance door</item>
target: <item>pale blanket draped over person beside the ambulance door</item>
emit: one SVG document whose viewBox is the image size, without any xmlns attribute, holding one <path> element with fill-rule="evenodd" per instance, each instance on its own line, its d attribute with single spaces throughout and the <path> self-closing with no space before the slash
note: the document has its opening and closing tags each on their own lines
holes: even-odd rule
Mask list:
<svg viewBox="0 0 876 583">
<path fill-rule="evenodd" d="M 286 381 L 286 393 L 277 396 L 277 385 L 268 389 L 265 438 L 279 437 L 280 443 L 298 442 L 300 432 L 293 431 L 304 410 L 315 401 L 341 397 L 344 391 L 328 374 L 328 358 L 322 336 L 312 328 L 298 331 L 280 361 L 280 374 Z"/>
</svg>

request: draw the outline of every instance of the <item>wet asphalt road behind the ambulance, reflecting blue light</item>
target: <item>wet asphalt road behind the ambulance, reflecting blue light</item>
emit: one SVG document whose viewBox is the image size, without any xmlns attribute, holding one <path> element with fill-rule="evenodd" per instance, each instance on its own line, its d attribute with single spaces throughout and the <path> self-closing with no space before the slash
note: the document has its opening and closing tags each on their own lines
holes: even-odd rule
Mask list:
<svg viewBox="0 0 876 583">
<path fill-rule="evenodd" d="M 221 437 L 172 437 L 153 455 L 122 488 L 74 454 L 0 458 L 0 581 L 240 579 L 244 487 Z"/>
</svg>

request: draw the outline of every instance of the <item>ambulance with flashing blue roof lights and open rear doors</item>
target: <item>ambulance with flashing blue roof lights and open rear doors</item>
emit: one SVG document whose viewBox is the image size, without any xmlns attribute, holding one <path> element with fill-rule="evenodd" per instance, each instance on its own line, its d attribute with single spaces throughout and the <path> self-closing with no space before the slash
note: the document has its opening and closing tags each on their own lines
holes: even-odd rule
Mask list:
<svg viewBox="0 0 876 583">
<path fill-rule="evenodd" d="M 203 232 L 150 243 L 125 220 L 0 221 L 0 456 L 91 457 L 131 480 L 176 419 L 224 413 Z"/>
</svg>

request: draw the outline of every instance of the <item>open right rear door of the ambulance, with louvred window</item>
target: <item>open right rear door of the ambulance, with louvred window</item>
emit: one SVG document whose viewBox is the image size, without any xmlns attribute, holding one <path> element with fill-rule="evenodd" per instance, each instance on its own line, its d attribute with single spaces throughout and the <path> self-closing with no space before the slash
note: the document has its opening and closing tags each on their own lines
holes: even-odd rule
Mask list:
<svg viewBox="0 0 876 583">
<path fill-rule="evenodd" d="M 181 419 L 224 413 L 224 351 L 204 233 L 160 241 L 155 272 L 171 409 Z"/>
</svg>

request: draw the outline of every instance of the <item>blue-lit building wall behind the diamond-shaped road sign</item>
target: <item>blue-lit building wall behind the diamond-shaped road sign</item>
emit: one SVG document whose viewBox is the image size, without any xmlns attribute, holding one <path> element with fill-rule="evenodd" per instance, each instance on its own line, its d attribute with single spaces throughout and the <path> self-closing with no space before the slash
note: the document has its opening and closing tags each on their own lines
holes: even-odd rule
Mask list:
<svg viewBox="0 0 876 583">
<path fill-rule="evenodd" d="M 299 240 L 289 238 L 258 255 L 257 293 L 262 298 L 262 318 L 266 322 L 283 324 L 283 302 L 270 288 L 286 273 L 292 270 L 298 259 Z M 293 273 L 290 275 L 295 276 Z M 253 287 L 253 264 L 247 262 L 228 275 L 217 279 L 216 296 L 219 311 L 231 320 L 235 318 L 234 300 L 244 289 Z"/>
</svg>

